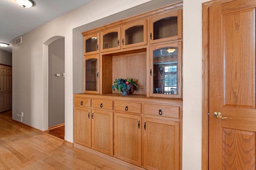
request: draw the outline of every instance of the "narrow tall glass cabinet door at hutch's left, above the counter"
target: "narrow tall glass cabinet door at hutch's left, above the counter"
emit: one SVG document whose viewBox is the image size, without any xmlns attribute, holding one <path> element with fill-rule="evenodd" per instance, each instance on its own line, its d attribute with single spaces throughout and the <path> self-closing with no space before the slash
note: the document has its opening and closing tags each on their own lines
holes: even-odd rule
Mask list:
<svg viewBox="0 0 256 170">
<path fill-rule="evenodd" d="M 84 57 L 84 93 L 100 92 L 99 56 Z"/>
</svg>

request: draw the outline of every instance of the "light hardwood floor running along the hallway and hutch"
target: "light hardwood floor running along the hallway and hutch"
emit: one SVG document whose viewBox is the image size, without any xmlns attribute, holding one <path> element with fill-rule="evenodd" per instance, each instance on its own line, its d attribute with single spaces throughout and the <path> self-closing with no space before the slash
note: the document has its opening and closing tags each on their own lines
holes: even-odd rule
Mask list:
<svg viewBox="0 0 256 170">
<path fill-rule="evenodd" d="M 12 111 L 0 113 L 0 170 L 130 169 L 14 123 L 11 115 Z"/>
</svg>

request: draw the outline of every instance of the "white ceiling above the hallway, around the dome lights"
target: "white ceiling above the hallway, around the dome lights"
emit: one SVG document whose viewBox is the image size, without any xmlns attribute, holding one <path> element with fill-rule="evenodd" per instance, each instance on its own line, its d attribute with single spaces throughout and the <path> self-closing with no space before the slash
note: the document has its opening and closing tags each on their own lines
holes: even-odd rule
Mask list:
<svg viewBox="0 0 256 170">
<path fill-rule="evenodd" d="M 23 8 L 15 0 L 0 0 L 0 47 L 12 53 L 12 39 L 43 25 L 91 0 L 34 0 L 31 8 Z"/>
</svg>

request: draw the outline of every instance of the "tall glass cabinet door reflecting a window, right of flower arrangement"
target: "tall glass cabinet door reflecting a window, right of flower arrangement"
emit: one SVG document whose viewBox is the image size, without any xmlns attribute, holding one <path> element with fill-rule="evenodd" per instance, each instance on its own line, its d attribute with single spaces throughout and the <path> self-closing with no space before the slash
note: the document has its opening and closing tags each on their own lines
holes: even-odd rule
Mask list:
<svg viewBox="0 0 256 170">
<path fill-rule="evenodd" d="M 181 42 L 150 47 L 151 96 L 181 98 Z"/>
</svg>

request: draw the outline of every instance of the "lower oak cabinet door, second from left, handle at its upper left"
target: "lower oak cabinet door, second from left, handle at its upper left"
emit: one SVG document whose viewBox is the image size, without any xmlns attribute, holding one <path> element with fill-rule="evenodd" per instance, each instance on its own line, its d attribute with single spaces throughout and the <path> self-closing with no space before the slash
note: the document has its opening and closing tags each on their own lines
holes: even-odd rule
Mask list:
<svg viewBox="0 0 256 170">
<path fill-rule="evenodd" d="M 92 149 L 113 156 L 113 112 L 92 109 Z"/>
</svg>

